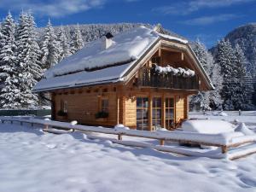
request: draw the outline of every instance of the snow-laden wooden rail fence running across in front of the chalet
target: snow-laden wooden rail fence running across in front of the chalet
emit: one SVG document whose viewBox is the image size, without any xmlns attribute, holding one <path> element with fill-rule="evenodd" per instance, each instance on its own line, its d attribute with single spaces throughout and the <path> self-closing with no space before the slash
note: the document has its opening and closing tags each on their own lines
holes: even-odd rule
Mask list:
<svg viewBox="0 0 256 192">
<path fill-rule="evenodd" d="M 256 135 L 253 136 L 244 136 L 241 132 L 228 132 L 228 133 L 219 133 L 219 134 L 202 134 L 196 132 L 185 132 L 185 131 L 137 131 L 130 130 L 127 127 L 116 126 L 113 128 L 103 128 L 95 126 L 86 126 L 86 125 L 75 125 L 67 122 L 53 121 L 49 119 L 22 119 L 15 117 L 1 117 L 1 122 L 6 121 L 13 124 L 13 122 L 19 122 L 20 125 L 23 123 L 44 125 L 43 131 L 61 134 L 67 133 L 70 131 L 81 131 L 81 132 L 98 132 L 105 134 L 113 134 L 118 136 L 118 140 L 113 141 L 113 143 L 119 143 L 124 145 L 136 146 L 136 147 L 150 147 L 156 150 L 171 152 L 175 154 L 183 154 L 189 156 L 197 156 L 200 153 L 193 152 L 188 148 L 173 148 L 171 146 L 164 146 L 165 141 L 178 142 L 178 143 L 191 143 L 198 145 L 214 146 L 222 148 L 222 154 L 218 156 L 211 156 L 214 158 L 228 158 L 234 160 L 248 154 L 256 153 Z M 52 129 L 53 127 L 55 129 Z M 57 129 L 57 130 L 56 130 Z M 61 129 L 61 130 L 58 130 Z M 67 131 L 63 131 L 67 130 Z M 145 144 L 139 142 L 125 142 L 122 141 L 122 136 L 130 137 L 145 137 L 157 139 L 160 141 L 160 145 Z M 247 145 L 251 143 L 250 145 Z M 240 147 L 240 148 L 237 148 Z M 237 148 L 235 150 L 234 148 Z M 230 150 L 229 150 L 230 149 Z M 230 153 L 228 153 L 230 152 Z"/>
</svg>

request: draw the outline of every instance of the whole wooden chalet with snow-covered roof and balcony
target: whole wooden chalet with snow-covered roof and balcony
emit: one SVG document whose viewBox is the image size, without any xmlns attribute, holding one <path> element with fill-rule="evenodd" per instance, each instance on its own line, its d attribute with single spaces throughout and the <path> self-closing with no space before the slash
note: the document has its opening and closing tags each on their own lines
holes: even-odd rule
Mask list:
<svg viewBox="0 0 256 192">
<path fill-rule="evenodd" d="M 88 43 L 51 67 L 34 87 L 49 92 L 52 119 L 84 125 L 175 129 L 188 96 L 212 90 L 187 40 L 140 26 Z"/>
</svg>

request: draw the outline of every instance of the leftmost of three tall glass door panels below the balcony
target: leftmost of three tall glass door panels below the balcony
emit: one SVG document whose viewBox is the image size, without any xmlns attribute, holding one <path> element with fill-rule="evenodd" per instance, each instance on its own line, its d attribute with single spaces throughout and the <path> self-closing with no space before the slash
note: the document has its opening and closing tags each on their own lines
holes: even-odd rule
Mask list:
<svg viewBox="0 0 256 192">
<path fill-rule="evenodd" d="M 137 97 L 137 130 L 148 130 L 148 98 Z"/>
</svg>

